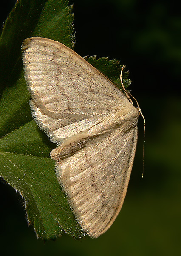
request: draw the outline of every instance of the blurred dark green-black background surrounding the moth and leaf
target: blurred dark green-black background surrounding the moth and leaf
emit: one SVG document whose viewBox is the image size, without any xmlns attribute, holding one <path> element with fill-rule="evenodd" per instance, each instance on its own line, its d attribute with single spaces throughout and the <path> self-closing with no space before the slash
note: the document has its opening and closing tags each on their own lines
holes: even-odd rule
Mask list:
<svg viewBox="0 0 181 256">
<path fill-rule="evenodd" d="M 14 6 L 5 1 L 0 21 Z M 74 0 L 79 55 L 122 60 L 143 121 L 121 213 L 98 239 L 64 234 L 45 244 L 27 227 L 20 196 L 0 185 L 0 247 L 15 255 L 179 255 L 181 246 L 181 12 L 167 0 Z"/>
</svg>

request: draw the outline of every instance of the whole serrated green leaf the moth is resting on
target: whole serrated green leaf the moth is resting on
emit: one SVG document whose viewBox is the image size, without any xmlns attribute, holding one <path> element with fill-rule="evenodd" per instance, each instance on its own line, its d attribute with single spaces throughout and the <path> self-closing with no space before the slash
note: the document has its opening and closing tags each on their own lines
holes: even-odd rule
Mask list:
<svg viewBox="0 0 181 256">
<path fill-rule="evenodd" d="M 68 0 L 20 0 L 0 36 L 0 176 L 20 192 L 29 224 L 37 237 L 55 239 L 62 231 L 75 238 L 85 234 L 76 221 L 49 157 L 56 147 L 32 120 L 21 61 L 25 38 L 40 36 L 74 47 L 74 15 Z M 86 59 L 120 84 L 120 61 Z M 130 84 L 124 72 L 124 84 Z"/>
</svg>

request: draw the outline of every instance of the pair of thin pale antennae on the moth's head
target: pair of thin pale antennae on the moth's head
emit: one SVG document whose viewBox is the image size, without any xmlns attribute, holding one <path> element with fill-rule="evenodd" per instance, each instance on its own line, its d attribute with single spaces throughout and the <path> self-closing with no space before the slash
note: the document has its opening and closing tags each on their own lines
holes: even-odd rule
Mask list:
<svg viewBox="0 0 181 256">
<path fill-rule="evenodd" d="M 137 106 L 138 106 L 140 115 L 142 116 L 143 121 L 144 121 L 144 134 L 143 134 L 143 171 L 144 171 L 144 144 L 145 144 L 145 128 L 146 128 L 146 123 L 145 123 L 144 115 L 143 115 L 143 113 L 142 113 L 142 111 L 141 111 L 141 108 L 139 107 L 139 104 L 138 104 L 137 100 L 136 100 L 130 93 L 128 93 L 128 92 L 125 90 L 125 87 L 124 87 L 124 84 L 123 84 L 123 81 L 122 81 L 122 72 L 123 72 L 123 70 L 124 70 L 124 67 L 125 67 L 125 65 L 122 66 L 121 74 L 120 74 L 120 80 L 121 80 L 122 89 L 124 90 L 124 93 L 125 93 L 125 95 L 127 96 L 127 99 L 129 99 L 129 101 L 130 101 L 132 104 L 133 104 L 133 101 L 131 100 L 130 96 L 136 101 L 136 104 L 137 104 Z M 143 178 L 143 171 L 142 171 L 142 178 Z"/>
</svg>

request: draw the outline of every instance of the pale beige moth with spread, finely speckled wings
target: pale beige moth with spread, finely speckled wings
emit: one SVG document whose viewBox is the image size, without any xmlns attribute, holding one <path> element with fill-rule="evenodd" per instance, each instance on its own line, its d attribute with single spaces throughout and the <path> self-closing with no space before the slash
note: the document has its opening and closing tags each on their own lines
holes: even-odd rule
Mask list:
<svg viewBox="0 0 181 256">
<path fill-rule="evenodd" d="M 58 145 L 50 153 L 57 180 L 82 229 L 97 238 L 122 208 L 140 110 L 65 45 L 34 37 L 22 51 L 32 116 Z"/>
</svg>

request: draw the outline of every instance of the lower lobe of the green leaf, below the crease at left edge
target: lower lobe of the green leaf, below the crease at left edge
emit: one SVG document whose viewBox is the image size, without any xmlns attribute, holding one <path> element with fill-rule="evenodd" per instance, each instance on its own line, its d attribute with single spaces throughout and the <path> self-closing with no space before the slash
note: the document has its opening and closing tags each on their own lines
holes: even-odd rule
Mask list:
<svg viewBox="0 0 181 256">
<path fill-rule="evenodd" d="M 62 230 L 81 237 L 83 232 L 56 180 L 54 162 L 48 157 L 51 147 L 37 130 L 31 121 L 1 140 L 1 175 L 24 198 L 28 222 L 34 224 L 38 237 L 54 239 Z"/>
</svg>

